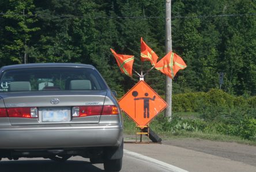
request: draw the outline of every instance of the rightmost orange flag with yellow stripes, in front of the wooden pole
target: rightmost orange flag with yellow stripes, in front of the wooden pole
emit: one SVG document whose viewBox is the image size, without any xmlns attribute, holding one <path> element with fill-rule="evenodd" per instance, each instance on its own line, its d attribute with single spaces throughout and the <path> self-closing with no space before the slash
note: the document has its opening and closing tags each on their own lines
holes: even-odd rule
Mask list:
<svg viewBox="0 0 256 172">
<path fill-rule="evenodd" d="M 166 54 L 157 64 L 155 68 L 165 75 L 169 76 L 171 79 L 174 78 L 179 69 L 185 69 L 187 67 L 186 63 L 173 52 Z"/>
</svg>

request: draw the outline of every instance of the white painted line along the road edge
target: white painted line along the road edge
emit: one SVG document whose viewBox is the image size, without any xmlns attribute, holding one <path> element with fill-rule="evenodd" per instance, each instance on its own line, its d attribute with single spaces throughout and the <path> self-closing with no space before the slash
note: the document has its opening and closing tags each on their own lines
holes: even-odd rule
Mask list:
<svg viewBox="0 0 256 172">
<path fill-rule="evenodd" d="M 154 163 L 158 166 L 165 167 L 165 169 L 168 169 L 168 170 L 171 170 L 171 171 L 174 171 L 174 172 L 188 172 L 186 170 L 180 169 L 179 167 L 170 165 L 170 164 L 165 163 L 163 161 L 159 161 L 159 160 L 154 159 L 154 158 L 146 157 L 145 155 L 134 153 L 132 151 L 125 150 L 125 149 L 123 151 L 124 151 L 125 154 L 128 154 L 131 157 L 134 157 L 134 158 L 137 158 L 137 159 L 142 159 L 142 160 L 145 160 L 146 162 Z"/>
</svg>

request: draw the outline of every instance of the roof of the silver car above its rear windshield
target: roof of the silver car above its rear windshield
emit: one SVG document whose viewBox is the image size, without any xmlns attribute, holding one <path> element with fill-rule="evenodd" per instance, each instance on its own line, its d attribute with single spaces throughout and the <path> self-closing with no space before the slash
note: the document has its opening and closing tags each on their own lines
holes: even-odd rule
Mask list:
<svg viewBox="0 0 256 172">
<path fill-rule="evenodd" d="M 74 68 L 92 68 L 92 65 L 88 64 L 78 64 L 78 63 L 64 63 L 64 62 L 49 62 L 49 63 L 31 63 L 31 64 L 17 64 L 17 65 L 7 65 L 0 69 L 0 71 L 5 71 L 7 69 L 20 69 L 20 68 L 35 68 L 35 67 L 74 67 Z"/>
</svg>

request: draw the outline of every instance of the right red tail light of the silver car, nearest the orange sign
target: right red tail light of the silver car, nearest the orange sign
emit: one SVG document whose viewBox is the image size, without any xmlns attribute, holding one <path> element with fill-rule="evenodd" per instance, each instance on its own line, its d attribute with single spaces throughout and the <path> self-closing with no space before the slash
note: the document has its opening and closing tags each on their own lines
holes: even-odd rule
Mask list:
<svg viewBox="0 0 256 172">
<path fill-rule="evenodd" d="M 115 105 L 85 105 L 72 108 L 73 117 L 118 114 L 118 108 Z"/>
</svg>

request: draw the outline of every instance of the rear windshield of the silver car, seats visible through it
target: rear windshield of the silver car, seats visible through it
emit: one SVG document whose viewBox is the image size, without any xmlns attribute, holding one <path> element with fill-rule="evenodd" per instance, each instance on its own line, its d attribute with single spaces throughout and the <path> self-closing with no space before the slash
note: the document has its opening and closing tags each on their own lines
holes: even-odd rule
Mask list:
<svg viewBox="0 0 256 172">
<path fill-rule="evenodd" d="M 107 88 L 95 69 L 72 67 L 9 69 L 2 73 L 0 83 L 0 92 Z"/>
</svg>

